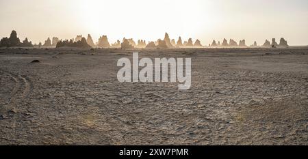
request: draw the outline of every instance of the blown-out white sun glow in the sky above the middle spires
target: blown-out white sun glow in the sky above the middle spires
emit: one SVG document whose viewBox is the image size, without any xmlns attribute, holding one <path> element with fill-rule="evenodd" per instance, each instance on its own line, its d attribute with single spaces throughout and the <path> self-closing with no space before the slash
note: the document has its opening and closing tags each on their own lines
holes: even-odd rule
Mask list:
<svg viewBox="0 0 308 159">
<path fill-rule="evenodd" d="M 157 40 L 167 31 L 171 38 L 196 37 L 209 27 L 205 2 L 200 1 L 78 1 L 79 20 L 97 39 L 108 35 L 111 41 L 125 38 Z"/>
</svg>

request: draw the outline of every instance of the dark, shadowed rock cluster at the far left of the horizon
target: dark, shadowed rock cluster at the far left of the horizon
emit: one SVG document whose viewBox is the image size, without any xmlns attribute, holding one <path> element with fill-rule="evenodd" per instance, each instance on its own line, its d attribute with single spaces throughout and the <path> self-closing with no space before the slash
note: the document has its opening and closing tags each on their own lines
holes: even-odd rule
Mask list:
<svg viewBox="0 0 308 159">
<path fill-rule="evenodd" d="M 28 47 L 28 46 L 33 46 L 32 42 L 29 42 L 28 38 L 25 38 L 23 42 L 17 38 L 17 33 L 16 31 L 12 31 L 10 38 L 2 38 L 0 40 L 0 46 L 5 46 L 5 47 L 14 47 L 14 46 L 23 46 L 23 47 Z"/>
</svg>

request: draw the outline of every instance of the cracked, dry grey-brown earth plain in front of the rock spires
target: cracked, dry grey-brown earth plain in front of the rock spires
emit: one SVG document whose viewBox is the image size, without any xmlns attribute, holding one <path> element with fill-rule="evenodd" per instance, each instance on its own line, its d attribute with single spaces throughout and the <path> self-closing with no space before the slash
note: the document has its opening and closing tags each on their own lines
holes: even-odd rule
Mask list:
<svg viewBox="0 0 308 159">
<path fill-rule="evenodd" d="M 133 50 L 0 49 L 0 145 L 308 145 L 308 48 L 135 51 L 191 57 L 191 89 L 119 83 Z"/>
</svg>

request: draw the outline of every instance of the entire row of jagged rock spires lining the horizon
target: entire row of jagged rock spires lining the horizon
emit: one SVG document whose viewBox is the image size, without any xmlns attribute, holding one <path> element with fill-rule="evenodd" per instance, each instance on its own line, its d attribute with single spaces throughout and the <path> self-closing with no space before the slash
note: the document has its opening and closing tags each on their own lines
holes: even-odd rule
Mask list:
<svg viewBox="0 0 308 159">
<path fill-rule="evenodd" d="M 23 42 L 20 42 L 19 38 L 17 38 L 16 31 L 12 31 L 10 34 L 10 38 L 2 38 L 0 40 L 0 46 L 33 46 L 31 42 L 27 38 L 23 40 Z M 107 35 L 103 35 L 99 38 L 98 42 L 94 44 L 94 41 L 92 40 L 92 37 L 90 34 L 88 34 L 88 38 L 82 37 L 82 35 L 77 35 L 75 40 L 59 40 L 57 37 L 53 37 L 52 40 L 50 38 L 47 38 L 47 40 L 44 41 L 44 44 L 41 42 L 38 45 L 34 45 L 38 47 L 50 47 L 50 46 L 56 46 L 62 47 L 62 46 L 73 46 L 73 47 L 101 47 L 101 48 L 179 48 L 179 47 L 203 47 L 200 40 L 196 40 L 195 42 L 192 41 L 192 38 L 189 38 L 187 41 L 183 42 L 181 39 L 181 36 L 178 38 L 177 42 L 175 42 L 175 39 L 170 40 L 170 37 L 168 33 L 165 33 L 164 40 L 158 39 L 155 42 L 148 42 L 146 44 L 145 40 L 138 40 L 137 44 L 135 41 L 133 41 L 132 38 L 123 38 L 123 42 L 121 43 L 120 40 L 117 40 L 113 44 L 110 45 L 107 39 Z M 277 44 L 276 39 L 272 38 L 272 42 L 266 40 L 262 47 L 287 47 L 289 46 L 287 44 L 287 41 L 284 38 L 280 39 L 279 44 Z M 209 44 L 209 47 L 247 47 L 245 40 L 240 40 L 239 43 L 237 43 L 235 40 L 230 39 L 229 43 L 226 39 L 222 40 L 222 43 L 218 41 L 218 43 L 213 40 L 211 44 Z M 251 47 L 258 47 L 257 42 L 253 42 Z"/>
</svg>

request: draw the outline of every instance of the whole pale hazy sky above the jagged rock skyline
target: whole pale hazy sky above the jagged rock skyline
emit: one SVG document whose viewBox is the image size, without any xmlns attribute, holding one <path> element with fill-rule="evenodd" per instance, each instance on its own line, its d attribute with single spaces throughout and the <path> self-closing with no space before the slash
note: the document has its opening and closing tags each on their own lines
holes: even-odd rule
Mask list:
<svg viewBox="0 0 308 159">
<path fill-rule="evenodd" d="M 233 38 L 263 44 L 284 37 L 291 45 L 308 44 L 307 0 L 0 0 L 0 37 L 38 43 L 47 37 L 85 37 L 96 42 L 133 38 L 197 38 L 203 45 Z"/>
</svg>

